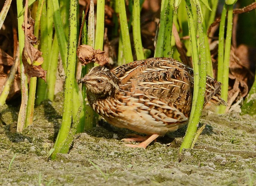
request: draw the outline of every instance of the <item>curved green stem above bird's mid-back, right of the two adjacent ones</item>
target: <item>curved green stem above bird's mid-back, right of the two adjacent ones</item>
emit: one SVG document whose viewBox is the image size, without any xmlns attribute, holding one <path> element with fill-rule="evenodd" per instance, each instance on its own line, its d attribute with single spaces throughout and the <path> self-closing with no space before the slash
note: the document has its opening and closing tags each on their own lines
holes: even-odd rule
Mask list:
<svg viewBox="0 0 256 186">
<path fill-rule="evenodd" d="M 140 35 L 140 0 L 134 0 L 133 2 L 133 22 L 132 22 L 132 32 L 133 32 L 133 41 L 136 51 L 137 60 L 145 59 L 142 42 Z"/>
</svg>

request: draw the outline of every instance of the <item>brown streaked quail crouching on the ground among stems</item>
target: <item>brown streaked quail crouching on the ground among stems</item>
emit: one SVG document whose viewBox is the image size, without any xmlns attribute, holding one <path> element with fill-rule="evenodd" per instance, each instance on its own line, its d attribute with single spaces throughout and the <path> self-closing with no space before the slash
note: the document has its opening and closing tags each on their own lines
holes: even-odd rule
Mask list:
<svg viewBox="0 0 256 186">
<path fill-rule="evenodd" d="M 193 69 L 174 59 L 150 58 L 112 70 L 96 66 L 79 82 L 85 83 L 91 108 L 108 123 L 148 135 L 123 139 L 143 141 L 129 146 L 146 148 L 158 136 L 188 123 Z M 220 97 L 220 86 L 207 76 L 204 105 L 226 105 Z"/>
</svg>

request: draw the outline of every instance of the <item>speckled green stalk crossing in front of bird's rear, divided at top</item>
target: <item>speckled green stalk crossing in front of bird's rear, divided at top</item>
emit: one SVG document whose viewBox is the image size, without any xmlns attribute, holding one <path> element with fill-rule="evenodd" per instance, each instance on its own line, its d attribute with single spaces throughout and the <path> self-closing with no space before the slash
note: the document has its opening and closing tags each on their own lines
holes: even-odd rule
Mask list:
<svg viewBox="0 0 256 186">
<path fill-rule="evenodd" d="M 185 0 L 188 25 L 189 25 L 189 34 L 190 34 L 190 44 L 192 46 L 192 60 L 194 65 L 194 93 L 193 93 L 193 102 L 190 114 L 190 120 L 188 128 L 183 139 L 183 142 L 180 146 L 180 152 L 183 148 L 190 148 L 193 142 L 194 136 L 196 134 L 197 125 L 202 113 L 203 104 L 204 104 L 204 95 L 205 95 L 205 81 L 206 81 L 206 51 L 204 48 L 204 36 L 203 36 L 203 27 L 202 21 L 203 17 L 200 15 L 200 6 L 199 2 L 196 1 L 196 12 L 198 14 L 198 31 L 199 31 L 199 44 L 200 44 L 200 53 L 201 53 L 201 62 L 199 61 L 199 53 L 197 47 L 197 38 L 196 38 L 196 28 L 193 19 L 193 11 L 190 4 L 190 0 Z"/>
</svg>

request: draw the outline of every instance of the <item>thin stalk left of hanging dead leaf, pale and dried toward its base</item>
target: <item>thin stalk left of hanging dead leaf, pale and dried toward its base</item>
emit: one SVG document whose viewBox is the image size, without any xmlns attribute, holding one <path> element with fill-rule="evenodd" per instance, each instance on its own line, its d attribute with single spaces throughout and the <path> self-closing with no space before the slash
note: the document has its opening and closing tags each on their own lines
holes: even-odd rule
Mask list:
<svg viewBox="0 0 256 186">
<path fill-rule="evenodd" d="M 19 14 L 23 9 L 22 0 L 17 0 L 17 14 Z M 24 47 L 25 36 L 22 30 L 22 24 L 24 21 L 24 17 L 21 16 L 18 18 L 18 34 L 19 34 L 19 50 L 20 50 L 20 68 L 21 68 L 21 106 L 17 121 L 17 132 L 21 132 L 25 127 L 25 118 L 26 118 L 26 110 L 27 110 L 27 76 L 24 73 L 24 66 L 22 64 L 22 50 Z"/>
</svg>

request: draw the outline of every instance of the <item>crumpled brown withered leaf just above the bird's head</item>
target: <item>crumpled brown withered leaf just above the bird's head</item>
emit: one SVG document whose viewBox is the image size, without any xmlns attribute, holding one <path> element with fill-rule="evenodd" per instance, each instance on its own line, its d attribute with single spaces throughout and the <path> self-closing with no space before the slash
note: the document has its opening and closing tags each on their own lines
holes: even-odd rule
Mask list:
<svg viewBox="0 0 256 186">
<path fill-rule="evenodd" d="M 89 45 L 80 45 L 76 50 L 76 55 L 82 65 L 87 65 L 90 62 L 96 62 L 100 66 L 109 63 L 109 59 L 105 54 L 105 51 L 100 49 L 95 50 Z"/>
</svg>

